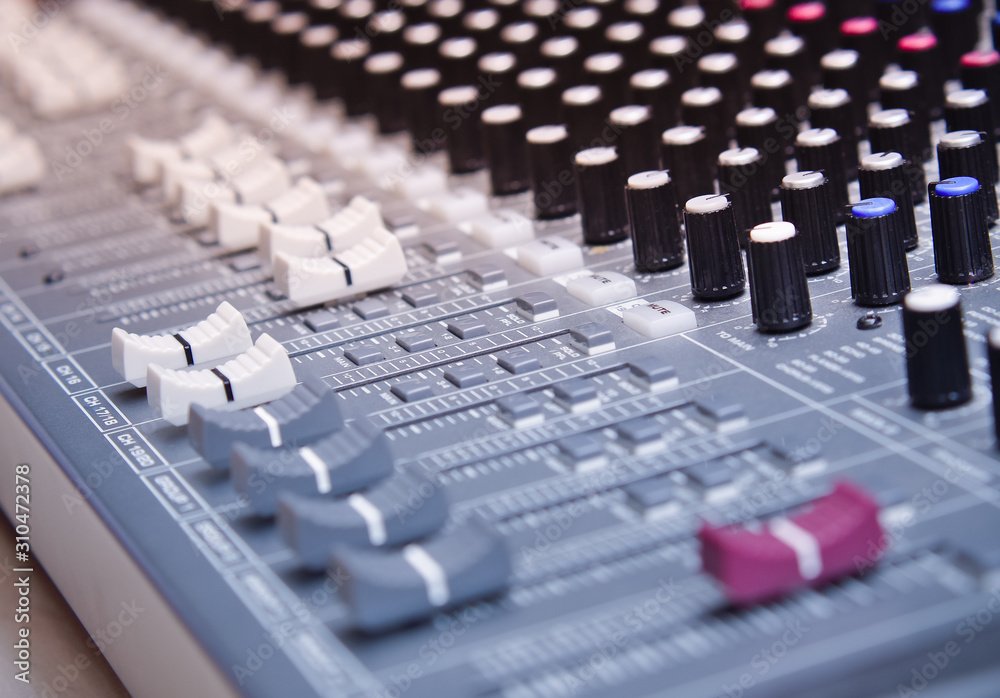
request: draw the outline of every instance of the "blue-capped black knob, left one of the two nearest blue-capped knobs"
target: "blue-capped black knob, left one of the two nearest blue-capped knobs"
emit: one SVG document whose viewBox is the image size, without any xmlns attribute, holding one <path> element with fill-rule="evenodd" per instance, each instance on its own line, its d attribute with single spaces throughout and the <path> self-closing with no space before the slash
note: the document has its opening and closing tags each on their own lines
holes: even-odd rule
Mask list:
<svg viewBox="0 0 1000 698">
<path fill-rule="evenodd" d="M 910 290 L 899 213 L 892 199 L 862 199 L 847 214 L 851 296 L 858 305 L 893 305 Z"/>
</svg>

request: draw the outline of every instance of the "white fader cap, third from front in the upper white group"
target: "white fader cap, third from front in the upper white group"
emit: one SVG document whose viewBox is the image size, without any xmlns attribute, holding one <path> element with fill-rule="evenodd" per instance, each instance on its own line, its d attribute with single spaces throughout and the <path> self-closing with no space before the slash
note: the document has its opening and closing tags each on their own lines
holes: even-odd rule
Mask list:
<svg viewBox="0 0 1000 698">
<path fill-rule="evenodd" d="M 267 203 L 214 201 L 209 214 L 209 229 L 227 250 L 257 247 L 261 228 L 267 224 L 302 226 L 330 216 L 326 192 L 316 180 L 303 177 L 295 186 Z"/>
</svg>

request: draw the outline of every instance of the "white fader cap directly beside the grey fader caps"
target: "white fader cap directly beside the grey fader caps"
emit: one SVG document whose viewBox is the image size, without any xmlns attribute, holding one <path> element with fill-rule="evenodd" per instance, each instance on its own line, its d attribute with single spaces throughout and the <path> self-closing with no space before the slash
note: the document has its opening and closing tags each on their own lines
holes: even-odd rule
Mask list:
<svg viewBox="0 0 1000 698">
<path fill-rule="evenodd" d="M 216 368 L 178 371 L 152 364 L 146 376 L 150 406 L 175 426 L 188 423 L 191 405 L 241 410 L 277 400 L 295 387 L 288 352 L 267 334 Z"/>
</svg>

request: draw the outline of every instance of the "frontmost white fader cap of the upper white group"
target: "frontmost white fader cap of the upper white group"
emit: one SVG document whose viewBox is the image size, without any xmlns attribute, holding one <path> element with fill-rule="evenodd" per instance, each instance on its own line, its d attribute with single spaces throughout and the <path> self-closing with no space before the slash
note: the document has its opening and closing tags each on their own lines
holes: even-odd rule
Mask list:
<svg viewBox="0 0 1000 698">
<path fill-rule="evenodd" d="M 279 252 L 274 259 L 275 285 L 299 306 L 385 288 L 402 279 L 406 271 L 403 248 L 385 228 L 334 257 Z"/>
</svg>

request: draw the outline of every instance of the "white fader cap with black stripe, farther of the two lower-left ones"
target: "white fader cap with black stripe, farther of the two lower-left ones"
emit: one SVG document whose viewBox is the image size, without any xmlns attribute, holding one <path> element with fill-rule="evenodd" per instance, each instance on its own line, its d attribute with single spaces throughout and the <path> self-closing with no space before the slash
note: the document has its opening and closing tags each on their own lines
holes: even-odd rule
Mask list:
<svg viewBox="0 0 1000 698">
<path fill-rule="evenodd" d="M 176 334 L 132 334 L 116 327 L 111 331 L 111 361 L 122 378 L 142 388 L 150 364 L 174 369 L 220 361 L 252 344 L 246 320 L 223 303 L 197 325 Z"/>
</svg>

